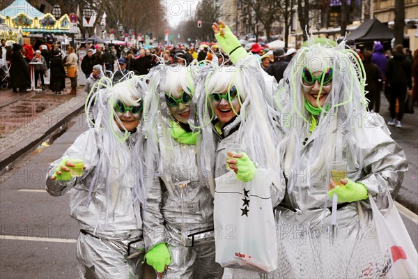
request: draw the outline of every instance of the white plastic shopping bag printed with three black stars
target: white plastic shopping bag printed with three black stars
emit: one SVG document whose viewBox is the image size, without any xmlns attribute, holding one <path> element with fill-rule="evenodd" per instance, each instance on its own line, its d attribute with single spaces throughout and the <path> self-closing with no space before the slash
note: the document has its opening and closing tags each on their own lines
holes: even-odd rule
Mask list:
<svg viewBox="0 0 418 279">
<path fill-rule="evenodd" d="M 223 267 L 270 272 L 277 269 L 277 236 L 270 185 L 272 170 L 256 169 L 242 182 L 234 172 L 215 179 L 216 262 Z"/>
</svg>

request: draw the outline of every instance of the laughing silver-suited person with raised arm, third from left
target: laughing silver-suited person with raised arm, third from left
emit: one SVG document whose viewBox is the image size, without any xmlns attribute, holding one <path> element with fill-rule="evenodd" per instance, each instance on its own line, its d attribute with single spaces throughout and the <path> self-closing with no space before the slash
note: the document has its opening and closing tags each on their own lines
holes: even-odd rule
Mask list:
<svg viewBox="0 0 418 279">
<path fill-rule="evenodd" d="M 219 37 L 217 31 L 215 34 Z M 222 38 L 220 39 L 222 40 Z M 225 46 L 225 44 L 223 45 Z M 240 46 L 239 42 L 238 46 Z M 231 50 L 234 48 L 235 46 L 230 47 Z M 229 50 L 225 51 L 231 53 Z M 206 68 L 201 70 L 201 79 L 196 87 L 199 126 L 203 133 L 201 165 L 208 170 L 215 169 L 215 208 L 220 203 L 217 201 L 217 195 L 219 201 L 224 199 L 224 197 L 220 198 L 224 193 L 223 189 L 231 191 L 236 189 L 235 192 L 244 194 L 252 186 L 258 188 L 261 185 L 266 186 L 265 199 L 270 204 L 268 210 L 271 213 L 274 235 L 273 208 L 284 197 L 284 182 L 281 181 L 279 153 L 276 148 L 281 141 L 281 136 L 273 121 L 275 112 L 272 96 L 277 90 L 277 82 L 274 77 L 267 75 L 261 69 L 258 59 L 255 56 L 247 55 L 242 47 L 235 54 L 238 55 L 232 53 L 230 56 L 235 66 L 218 66 L 216 61 L 216 63 L 208 63 Z M 231 153 L 227 144 L 238 144 L 242 147 L 242 152 Z M 229 170 L 233 172 L 229 172 Z M 231 185 L 233 187 L 230 187 Z M 219 190 L 221 186 L 222 190 Z M 233 195 L 232 192 L 231 195 Z M 248 206 L 248 203 L 251 204 L 250 200 L 256 199 L 256 196 L 251 196 L 251 193 L 249 195 L 248 199 L 247 195 L 242 197 L 238 195 L 238 199 L 240 203 L 245 201 L 244 203 L 247 204 L 247 207 L 244 206 L 244 211 L 242 211 L 245 216 L 247 216 L 247 208 L 253 208 L 249 215 L 251 219 L 251 214 L 256 212 L 256 209 Z M 215 211 L 215 214 L 219 214 L 219 216 L 215 216 L 215 227 L 218 227 L 217 220 L 219 220 L 219 224 L 225 220 L 220 216 L 222 212 L 231 209 L 228 209 L 228 204 L 219 204 L 219 211 Z M 238 214 L 240 214 L 239 209 L 234 208 L 234 210 L 238 210 Z M 262 217 L 260 216 L 260 218 Z M 240 226 L 238 223 L 236 225 Z M 256 228 L 253 229 L 256 230 Z M 233 237 L 240 239 L 242 243 L 252 242 L 251 239 L 243 239 L 243 234 L 240 234 L 238 230 Z M 220 238 L 219 241 L 221 241 Z M 256 244 L 253 243 L 252 246 L 254 245 Z M 247 248 L 249 246 L 251 244 Z M 275 252 L 275 244 L 271 243 L 270 247 L 274 247 Z M 228 252 L 225 252 L 225 255 L 227 254 Z M 217 261 L 222 261 L 220 258 L 217 257 Z M 226 276 L 230 276 L 231 273 L 238 276 L 239 268 L 257 269 L 255 267 L 257 264 L 247 267 L 247 263 L 245 261 L 233 264 L 222 262 L 224 266 L 234 269 L 233 271 L 226 270 Z M 263 263 L 260 265 L 262 266 Z M 249 273 L 251 271 L 245 274 Z M 259 274 L 252 272 L 251 277 L 258 278 Z"/>
</svg>

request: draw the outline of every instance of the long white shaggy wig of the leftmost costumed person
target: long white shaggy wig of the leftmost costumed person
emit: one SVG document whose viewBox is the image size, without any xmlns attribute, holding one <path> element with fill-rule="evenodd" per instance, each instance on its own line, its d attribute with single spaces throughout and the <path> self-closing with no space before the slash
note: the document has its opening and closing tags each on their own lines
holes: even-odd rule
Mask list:
<svg viewBox="0 0 418 279">
<path fill-rule="evenodd" d="M 127 169 L 134 165 L 134 177 L 137 181 L 134 186 L 134 198 L 137 202 L 144 203 L 145 195 L 142 187 L 140 173 L 140 162 L 130 161 L 128 158 L 135 160 L 138 156 L 134 154 L 134 145 L 140 141 L 142 137 L 141 120 L 137 133 L 131 135 L 130 131 L 121 131 L 116 126 L 116 121 L 121 124 L 118 114 L 114 111 L 116 100 L 121 100 L 127 106 L 138 105 L 146 95 L 147 84 L 139 77 L 131 77 L 128 80 L 119 82 L 114 86 L 111 85 L 111 80 L 107 77 L 102 77 L 98 82 L 99 85 L 104 86 L 103 89 L 91 91 L 91 98 L 86 101 L 86 116 L 88 125 L 95 131 L 95 141 L 100 150 L 98 165 L 95 167 L 93 176 L 93 183 L 91 183 L 89 192 L 89 199 L 91 193 L 95 190 L 95 186 L 100 181 L 106 187 L 107 197 L 107 218 L 113 212 L 116 205 L 118 195 L 118 181 L 124 179 Z M 94 107 L 91 107 L 94 103 Z M 93 110 L 94 121 L 91 119 L 91 111 Z"/>
</svg>

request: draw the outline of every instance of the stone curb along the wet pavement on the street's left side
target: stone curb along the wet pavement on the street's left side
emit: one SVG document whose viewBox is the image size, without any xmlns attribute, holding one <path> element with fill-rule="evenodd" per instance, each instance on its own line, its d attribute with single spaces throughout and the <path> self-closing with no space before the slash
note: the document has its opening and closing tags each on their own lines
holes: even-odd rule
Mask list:
<svg viewBox="0 0 418 279">
<path fill-rule="evenodd" d="M 27 137 L 25 140 L 18 142 L 15 146 L 1 153 L 0 172 L 3 172 L 3 169 L 5 168 L 8 170 L 7 167 L 15 162 L 15 160 L 21 158 L 22 156 L 26 155 L 26 153 L 29 153 L 38 147 L 38 145 L 42 143 L 47 137 L 56 132 L 56 130 L 59 130 L 61 126 L 68 123 L 72 117 L 79 114 L 79 112 L 82 112 L 82 110 L 84 110 L 84 103 L 85 101 L 83 98 L 83 100 L 75 103 L 75 110 L 68 112 L 67 115 L 60 118 L 59 121 L 56 121 L 54 125 L 51 126 L 47 123 L 41 126 L 36 131 L 33 131 L 33 134 L 31 134 L 30 137 Z"/>
</svg>

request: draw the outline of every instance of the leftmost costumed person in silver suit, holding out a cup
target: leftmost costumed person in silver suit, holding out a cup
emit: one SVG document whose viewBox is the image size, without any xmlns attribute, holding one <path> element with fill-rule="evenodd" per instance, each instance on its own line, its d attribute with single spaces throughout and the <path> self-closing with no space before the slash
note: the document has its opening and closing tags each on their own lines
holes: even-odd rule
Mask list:
<svg viewBox="0 0 418 279">
<path fill-rule="evenodd" d="M 141 278 L 144 193 L 136 182 L 139 167 L 132 163 L 137 156 L 132 150 L 142 137 L 142 100 L 148 87 L 137 77 L 114 86 L 104 79 L 105 88 L 86 104 L 88 112 L 95 99 L 94 126 L 50 165 L 47 192 L 70 192 L 71 216 L 80 226 L 80 278 Z M 84 172 L 74 172 L 83 165 Z"/>
</svg>

